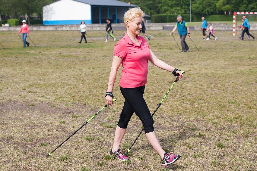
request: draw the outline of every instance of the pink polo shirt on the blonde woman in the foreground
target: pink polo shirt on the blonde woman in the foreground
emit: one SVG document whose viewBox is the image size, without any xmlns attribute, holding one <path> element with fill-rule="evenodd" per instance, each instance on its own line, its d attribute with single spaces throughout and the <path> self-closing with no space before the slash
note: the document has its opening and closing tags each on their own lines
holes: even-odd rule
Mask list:
<svg viewBox="0 0 257 171">
<path fill-rule="evenodd" d="M 137 36 L 140 46 L 132 42 L 127 33 L 114 47 L 114 56 L 122 59 L 120 86 L 122 88 L 135 88 L 147 83 L 148 61 L 150 47 L 146 40 Z"/>
</svg>

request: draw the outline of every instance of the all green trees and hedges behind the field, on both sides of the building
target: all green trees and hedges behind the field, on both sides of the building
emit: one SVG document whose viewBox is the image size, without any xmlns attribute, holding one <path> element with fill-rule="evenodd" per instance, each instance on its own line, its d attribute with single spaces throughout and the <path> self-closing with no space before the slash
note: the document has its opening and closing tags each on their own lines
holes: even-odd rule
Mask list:
<svg viewBox="0 0 257 171">
<path fill-rule="evenodd" d="M 43 6 L 55 0 L 0 0 L 0 21 L 26 16 L 42 18 Z M 139 5 L 148 15 L 153 14 L 190 14 L 190 0 L 119 0 Z M 256 0 L 191 0 L 191 14 L 214 15 L 231 14 L 232 12 L 256 12 Z"/>
</svg>

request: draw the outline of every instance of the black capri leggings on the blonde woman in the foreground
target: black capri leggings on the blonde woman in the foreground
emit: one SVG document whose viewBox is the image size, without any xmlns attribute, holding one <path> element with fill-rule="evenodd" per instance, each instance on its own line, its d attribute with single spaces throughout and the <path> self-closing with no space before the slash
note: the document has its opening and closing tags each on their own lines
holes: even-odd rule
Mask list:
<svg viewBox="0 0 257 171">
<path fill-rule="evenodd" d="M 128 122 L 135 112 L 143 123 L 144 133 L 146 134 L 154 131 L 154 119 L 143 98 L 144 87 L 145 86 L 136 88 L 120 87 L 120 91 L 125 98 L 124 106 L 117 124 L 120 128 L 127 128 Z"/>
</svg>

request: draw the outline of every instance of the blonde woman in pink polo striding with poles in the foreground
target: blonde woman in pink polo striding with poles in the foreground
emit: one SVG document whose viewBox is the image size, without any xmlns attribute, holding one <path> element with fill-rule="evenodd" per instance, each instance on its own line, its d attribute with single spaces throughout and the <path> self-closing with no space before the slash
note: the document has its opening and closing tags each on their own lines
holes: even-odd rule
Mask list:
<svg viewBox="0 0 257 171">
<path fill-rule="evenodd" d="M 144 125 L 144 132 L 150 144 L 160 155 L 163 167 L 166 167 L 178 160 L 180 156 L 165 152 L 155 134 L 154 120 L 143 98 L 145 84 L 147 83 L 148 61 L 163 70 L 171 72 L 174 76 L 178 76 L 178 79 L 181 79 L 183 75 L 180 70 L 159 60 L 151 51 L 146 40 L 138 36 L 142 29 L 142 17 L 144 17 L 144 13 L 140 7 L 125 12 L 124 21 L 127 31 L 114 47 L 113 63 L 105 96 L 106 105 L 113 104 L 113 87 L 120 64 L 123 67 L 120 91 L 125 101 L 116 127 L 113 148 L 109 155 L 113 155 L 121 161 L 129 160 L 122 154 L 119 146 L 125 135 L 128 122 L 135 113 Z"/>
</svg>

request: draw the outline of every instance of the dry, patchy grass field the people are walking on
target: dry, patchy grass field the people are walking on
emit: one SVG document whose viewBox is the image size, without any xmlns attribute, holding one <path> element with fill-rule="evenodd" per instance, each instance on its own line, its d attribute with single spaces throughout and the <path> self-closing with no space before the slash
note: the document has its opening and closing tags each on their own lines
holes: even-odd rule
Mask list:
<svg viewBox="0 0 257 171">
<path fill-rule="evenodd" d="M 186 38 L 180 53 L 170 31 L 148 31 L 156 56 L 185 71 L 154 115 L 154 128 L 167 151 L 181 155 L 162 168 L 159 155 L 142 134 L 130 162 L 109 157 L 124 98 L 100 112 L 52 156 L 46 155 L 105 105 L 113 48 L 104 31 L 89 31 L 88 43 L 71 31 L 31 31 L 29 48 L 16 32 L 0 32 L 0 170 L 257 170 L 257 43 L 232 32 L 218 39 Z M 119 40 L 124 31 L 115 31 Z M 179 43 L 179 36 L 174 34 Z M 180 43 L 179 43 L 180 46 Z M 151 112 L 175 77 L 148 64 L 144 98 Z M 121 144 L 127 149 L 142 129 L 134 114 Z"/>
</svg>

